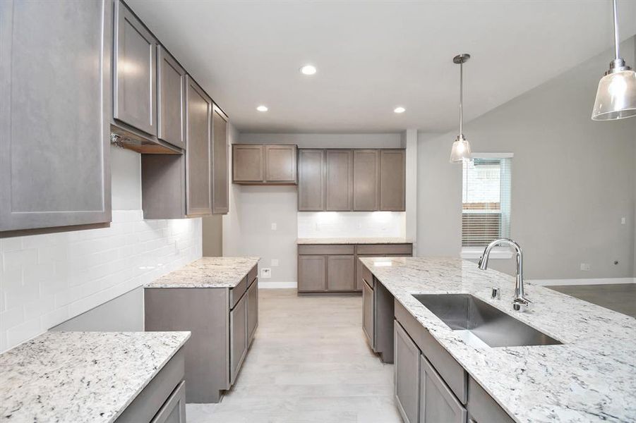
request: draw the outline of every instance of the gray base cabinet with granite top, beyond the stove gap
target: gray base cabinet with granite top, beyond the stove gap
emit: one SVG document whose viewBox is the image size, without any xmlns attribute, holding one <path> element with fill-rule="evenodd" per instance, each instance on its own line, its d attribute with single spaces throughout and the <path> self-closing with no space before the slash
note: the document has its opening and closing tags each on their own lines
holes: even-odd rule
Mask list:
<svg viewBox="0 0 636 423">
<path fill-rule="evenodd" d="M 258 327 L 259 257 L 203 257 L 144 287 L 147 331 L 188 330 L 188 403 L 232 388 Z"/>
</svg>

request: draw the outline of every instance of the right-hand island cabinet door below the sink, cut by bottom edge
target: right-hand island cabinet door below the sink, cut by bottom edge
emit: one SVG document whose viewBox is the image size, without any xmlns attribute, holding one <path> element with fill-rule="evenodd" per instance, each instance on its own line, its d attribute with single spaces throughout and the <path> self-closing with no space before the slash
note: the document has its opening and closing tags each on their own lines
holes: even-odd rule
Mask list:
<svg viewBox="0 0 636 423">
<path fill-rule="evenodd" d="M 424 355 L 420 355 L 421 423 L 466 423 L 467 412 Z"/>
</svg>

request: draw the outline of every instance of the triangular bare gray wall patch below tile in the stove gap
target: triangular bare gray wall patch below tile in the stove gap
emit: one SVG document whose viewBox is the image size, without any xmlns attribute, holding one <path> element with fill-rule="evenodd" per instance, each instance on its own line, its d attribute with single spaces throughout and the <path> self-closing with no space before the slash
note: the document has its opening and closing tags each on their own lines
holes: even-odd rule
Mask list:
<svg viewBox="0 0 636 423">
<path fill-rule="evenodd" d="M 68 319 L 51 328 L 52 331 L 143 331 L 143 288 L 124 295 Z"/>
</svg>

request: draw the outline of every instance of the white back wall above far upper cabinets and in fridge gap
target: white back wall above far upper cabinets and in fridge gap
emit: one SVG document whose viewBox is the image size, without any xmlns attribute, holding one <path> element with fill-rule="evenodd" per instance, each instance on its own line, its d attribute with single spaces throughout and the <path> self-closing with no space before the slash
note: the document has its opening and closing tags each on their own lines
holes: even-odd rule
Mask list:
<svg viewBox="0 0 636 423">
<path fill-rule="evenodd" d="M 239 134 L 230 130 L 231 142 L 296 144 L 300 148 L 401 148 L 395 134 Z M 262 286 L 295 286 L 296 238 L 299 213 L 295 186 L 230 187 L 229 214 L 223 216 L 223 255 L 258 255 L 260 269 L 270 267 L 272 277 L 259 279 Z M 272 231 L 272 223 L 277 224 Z M 272 259 L 279 266 L 271 266 Z"/>
</svg>

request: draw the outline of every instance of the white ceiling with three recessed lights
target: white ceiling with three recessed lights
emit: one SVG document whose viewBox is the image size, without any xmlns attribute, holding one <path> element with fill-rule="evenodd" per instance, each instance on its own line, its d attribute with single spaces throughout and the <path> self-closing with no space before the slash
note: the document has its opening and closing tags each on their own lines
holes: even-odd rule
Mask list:
<svg viewBox="0 0 636 423">
<path fill-rule="evenodd" d="M 244 132 L 445 132 L 458 120 L 455 54 L 472 55 L 469 120 L 612 44 L 609 0 L 128 4 Z M 636 0 L 619 11 L 627 39 Z M 306 63 L 318 73 L 301 75 Z"/>
</svg>

